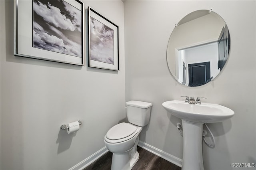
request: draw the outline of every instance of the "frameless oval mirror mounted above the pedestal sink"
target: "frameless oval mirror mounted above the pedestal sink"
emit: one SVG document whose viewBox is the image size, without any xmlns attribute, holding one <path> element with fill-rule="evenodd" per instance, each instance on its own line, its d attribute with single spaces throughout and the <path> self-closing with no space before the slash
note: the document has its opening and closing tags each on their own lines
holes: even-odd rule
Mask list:
<svg viewBox="0 0 256 170">
<path fill-rule="evenodd" d="M 230 52 L 226 22 L 212 10 L 198 10 L 175 26 L 167 47 L 167 63 L 181 84 L 196 87 L 212 81 Z"/>
</svg>

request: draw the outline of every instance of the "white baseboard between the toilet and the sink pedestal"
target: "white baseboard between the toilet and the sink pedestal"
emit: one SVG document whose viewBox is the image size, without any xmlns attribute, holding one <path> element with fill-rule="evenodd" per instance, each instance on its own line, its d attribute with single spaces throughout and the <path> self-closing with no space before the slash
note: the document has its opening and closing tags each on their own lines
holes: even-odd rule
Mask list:
<svg viewBox="0 0 256 170">
<path fill-rule="evenodd" d="M 182 159 L 177 158 L 176 156 L 173 156 L 171 154 L 168 154 L 158 148 L 155 148 L 154 146 L 151 146 L 149 144 L 146 144 L 142 141 L 139 141 L 138 146 L 142 147 L 143 149 L 148 150 L 149 152 L 152 152 L 153 154 L 156 154 L 157 156 L 172 162 L 173 164 L 182 167 Z"/>
</svg>

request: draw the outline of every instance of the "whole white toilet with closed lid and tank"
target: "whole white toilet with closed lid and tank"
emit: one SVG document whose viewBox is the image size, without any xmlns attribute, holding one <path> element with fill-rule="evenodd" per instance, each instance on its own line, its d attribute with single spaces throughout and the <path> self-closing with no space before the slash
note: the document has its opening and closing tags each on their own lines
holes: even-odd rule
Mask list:
<svg viewBox="0 0 256 170">
<path fill-rule="evenodd" d="M 111 170 L 131 170 L 138 161 L 139 134 L 149 122 L 151 106 L 143 101 L 126 102 L 129 123 L 119 123 L 108 130 L 104 142 L 113 153 Z"/>
</svg>

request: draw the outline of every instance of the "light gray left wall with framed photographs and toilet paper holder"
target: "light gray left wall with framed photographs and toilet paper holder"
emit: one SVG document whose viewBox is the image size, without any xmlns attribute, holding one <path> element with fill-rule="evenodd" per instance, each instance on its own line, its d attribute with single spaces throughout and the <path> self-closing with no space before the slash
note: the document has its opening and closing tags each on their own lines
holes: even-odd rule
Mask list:
<svg viewBox="0 0 256 170">
<path fill-rule="evenodd" d="M 107 130 L 126 117 L 124 4 L 83 2 L 119 26 L 120 71 L 14 56 L 14 2 L 0 1 L 2 170 L 69 169 L 103 148 Z M 75 134 L 60 130 L 76 120 Z"/>
</svg>

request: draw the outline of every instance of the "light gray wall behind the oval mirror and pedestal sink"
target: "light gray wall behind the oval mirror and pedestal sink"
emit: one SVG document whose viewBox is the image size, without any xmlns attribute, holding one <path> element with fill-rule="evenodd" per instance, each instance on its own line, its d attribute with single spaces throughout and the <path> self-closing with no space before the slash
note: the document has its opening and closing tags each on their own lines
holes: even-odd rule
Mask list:
<svg viewBox="0 0 256 170">
<path fill-rule="evenodd" d="M 212 9 L 226 21 L 231 53 L 222 73 L 207 85 L 184 87 L 166 64 L 167 43 L 177 24 L 195 10 Z M 162 103 L 181 95 L 207 97 L 235 112 L 232 119 L 209 124 L 216 146 L 203 144 L 206 170 L 232 169 L 230 164 L 256 162 L 255 1 L 125 1 L 126 101 L 153 104 L 150 123 L 140 140 L 182 158 L 183 138 Z M 207 138 L 210 140 L 210 138 Z M 246 168 L 244 168 L 246 169 Z"/>
</svg>

